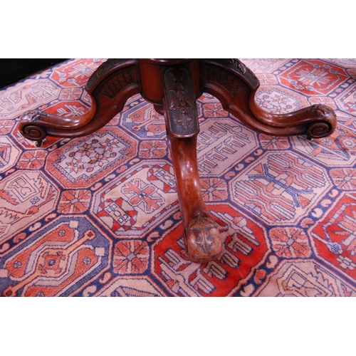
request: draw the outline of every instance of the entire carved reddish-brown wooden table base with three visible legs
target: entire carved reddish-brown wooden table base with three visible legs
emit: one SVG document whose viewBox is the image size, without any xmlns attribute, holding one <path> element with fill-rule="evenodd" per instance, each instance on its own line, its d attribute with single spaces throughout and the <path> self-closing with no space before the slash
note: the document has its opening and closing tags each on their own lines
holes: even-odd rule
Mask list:
<svg viewBox="0 0 356 356">
<path fill-rule="evenodd" d="M 89 112 L 68 118 L 29 111 L 21 116 L 19 130 L 37 146 L 47 135 L 88 135 L 122 111 L 128 98 L 140 93 L 165 117 L 187 256 L 198 263 L 212 261 L 221 253 L 221 239 L 199 181 L 196 100 L 201 94 L 214 95 L 224 110 L 268 135 L 312 139 L 328 136 L 336 127 L 335 112 L 325 105 L 282 115 L 266 112 L 255 100 L 259 85 L 251 70 L 237 59 L 110 59 L 85 86 L 92 100 Z"/>
</svg>

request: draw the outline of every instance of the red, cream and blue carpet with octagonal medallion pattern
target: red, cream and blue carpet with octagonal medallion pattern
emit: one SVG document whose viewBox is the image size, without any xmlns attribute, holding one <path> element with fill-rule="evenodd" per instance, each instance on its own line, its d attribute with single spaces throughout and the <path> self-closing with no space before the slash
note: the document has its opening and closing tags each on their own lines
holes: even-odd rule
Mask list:
<svg viewBox="0 0 356 356">
<path fill-rule="evenodd" d="M 276 113 L 323 103 L 330 137 L 254 132 L 198 100 L 201 186 L 224 251 L 187 260 L 164 117 L 140 95 L 100 131 L 40 148 L 27 110 L 74 117 L 104 60 L 77 59 L 0 90 L 1 296 L 355 296 L 356 60 L 244 59 Z"/>
</svg>

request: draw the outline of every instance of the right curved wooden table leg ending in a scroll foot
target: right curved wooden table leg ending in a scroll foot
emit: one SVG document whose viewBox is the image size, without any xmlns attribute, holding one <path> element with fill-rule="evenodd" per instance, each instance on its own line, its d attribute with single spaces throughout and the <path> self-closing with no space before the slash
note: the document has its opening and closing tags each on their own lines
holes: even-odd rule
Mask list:
<svg viewBox="0 0 356 356">
<path fill-rule="evenodd" d="M 326 105 L 273 114 L 256 103 L 258 78 L 237 59 L 201 60 L 201 90 L 214 95 L 223 108 L 258 132 L 275 136 L 307 135 L 309 139 L 331 135 L 337 119 Z"/>
</svg>

